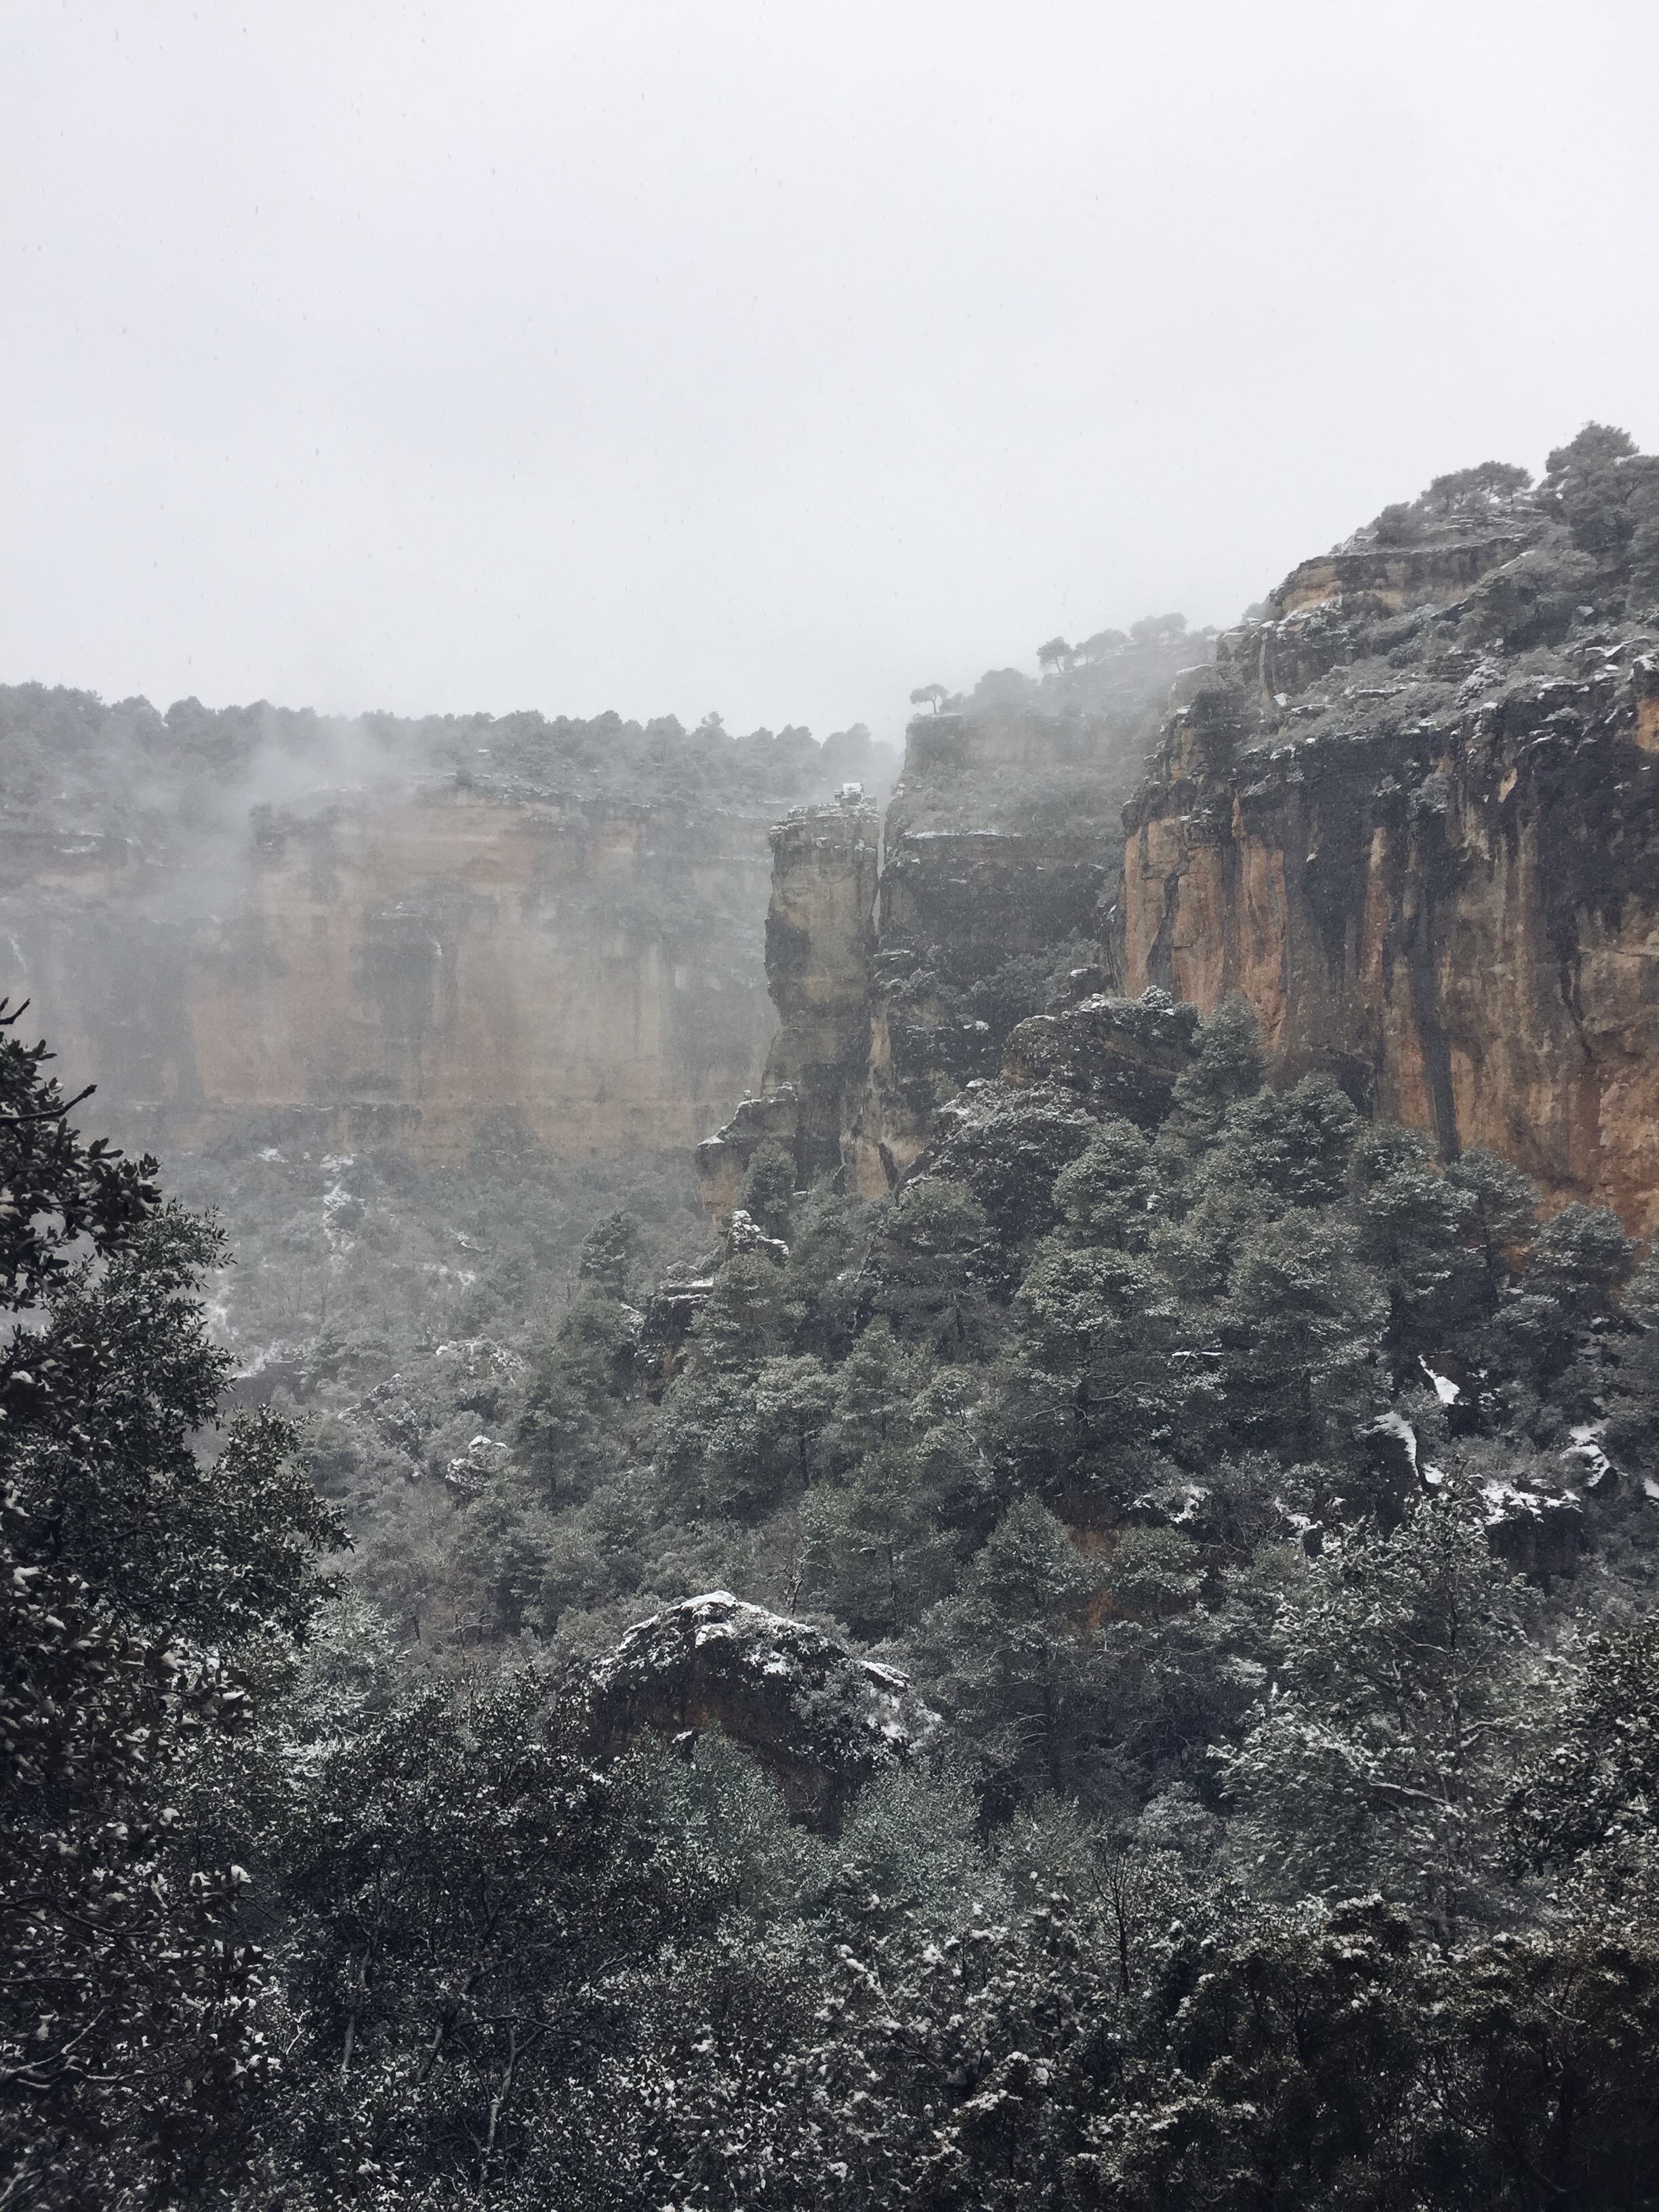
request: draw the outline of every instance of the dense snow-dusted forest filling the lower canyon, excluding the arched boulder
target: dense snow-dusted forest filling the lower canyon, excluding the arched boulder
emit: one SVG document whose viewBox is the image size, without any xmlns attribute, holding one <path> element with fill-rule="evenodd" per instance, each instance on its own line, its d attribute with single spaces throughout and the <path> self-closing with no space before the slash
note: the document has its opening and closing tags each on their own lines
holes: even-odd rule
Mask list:
<svg viewBox="0 0 1659 2212">
<path fill-rule="evenodd" d="M 11 2203 L 1652 2201 L 1652 1265 L 1139 1013 L 1150 1126 L 987 1086 L 876 1206 L 757 1155 L 655 1374 L 602 1217 L 476 1378 L 518 1639 L 425 1672 L 356 1447 L 217 1411 L 215 1228 L 9 1020 Z M 909 1677 L 838 1820 L 597 1743 L 714 1586 Z"/>
</svg>

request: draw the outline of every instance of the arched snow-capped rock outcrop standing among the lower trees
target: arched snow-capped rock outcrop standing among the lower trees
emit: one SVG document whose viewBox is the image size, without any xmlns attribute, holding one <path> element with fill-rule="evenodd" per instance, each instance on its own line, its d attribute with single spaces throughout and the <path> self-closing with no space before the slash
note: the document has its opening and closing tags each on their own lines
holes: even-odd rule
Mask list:
<svg viewBox="0 0 1659 2212">
<path fill-rule="evenodd" d="M 911 1754 L 933 1714 L 898 1668 L 710 1590 L 639 1621 L 599 1661 L 588 1725 L 602 1754 L 714 1728 L 759 1759 L 803 1827 L 834 1836 L 852 1798 Z"/>
</svg>

